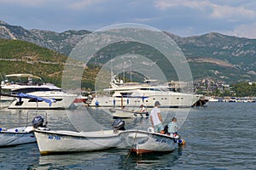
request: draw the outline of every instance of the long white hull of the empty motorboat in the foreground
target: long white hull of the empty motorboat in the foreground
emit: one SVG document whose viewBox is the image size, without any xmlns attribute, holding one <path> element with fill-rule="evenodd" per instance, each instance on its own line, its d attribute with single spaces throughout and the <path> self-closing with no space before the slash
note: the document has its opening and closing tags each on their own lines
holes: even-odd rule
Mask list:
<svg viewBox="0 0 256 170">
<path fill-rule="evenodd" d="M 65 152 L 106 150 L 122 142 L 113 130 L 96 132 L 35 131 L 41 155 Z"/>
</svg>

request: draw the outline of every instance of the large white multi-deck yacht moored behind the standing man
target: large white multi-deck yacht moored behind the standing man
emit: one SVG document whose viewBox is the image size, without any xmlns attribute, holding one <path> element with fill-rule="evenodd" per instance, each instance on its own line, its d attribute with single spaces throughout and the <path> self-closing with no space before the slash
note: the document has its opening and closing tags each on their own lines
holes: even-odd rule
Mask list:
<svg viewBox="0 0 256 170">
<path fill-rule="evenodd" d="M 201 99 L 201 94 L 186 94 L 175 92 L 168 86 L 149 85 L 148 83 L 122 83 L 116 77 L 112 78 L 111 88 L 104 89 L 112 94 L 96 96 L 90 106 L 130 106 L 146 105 L 154 107 L 155 101 L 160 101 L 161 107 L 191 107 Z"/>
</svg>

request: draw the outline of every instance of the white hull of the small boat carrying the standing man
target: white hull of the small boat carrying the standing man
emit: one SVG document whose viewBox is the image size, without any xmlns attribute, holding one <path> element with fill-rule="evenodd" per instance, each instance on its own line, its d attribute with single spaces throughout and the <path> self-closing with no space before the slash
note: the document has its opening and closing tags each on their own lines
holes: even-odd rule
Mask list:
<svg viewBox="0 0 256 170">
<path fill-rule="evenodd" d="M 137 154 L 172 151 L 178 145 L 171 136 L 142 130 L 127 130 L 121 136 L 125 147 Z"/>
</svg>

